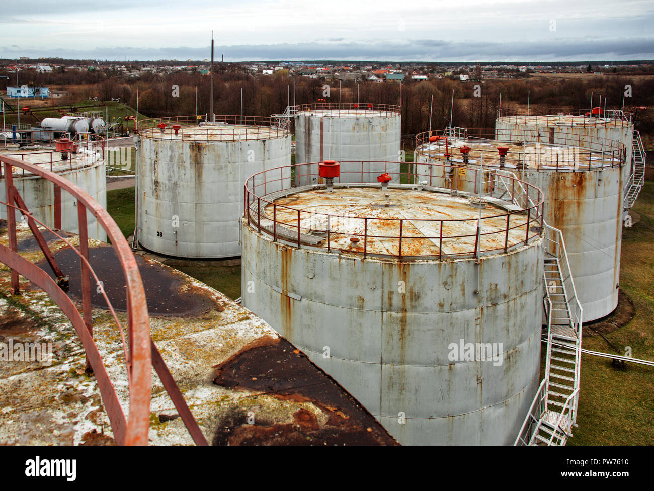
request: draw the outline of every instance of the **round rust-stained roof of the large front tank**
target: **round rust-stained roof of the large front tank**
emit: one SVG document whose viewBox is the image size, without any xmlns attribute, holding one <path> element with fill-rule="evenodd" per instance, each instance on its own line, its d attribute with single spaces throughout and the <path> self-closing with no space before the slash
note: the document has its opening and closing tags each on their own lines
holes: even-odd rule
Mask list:
<svg viewBox="0 0 654 491">
<path fill-rule="evenodd" d="M 525 242 L 526 212 L 506 203 L 509 212 L 500 200 L 486 202 L 489 198 L 483 197 L 480 215 L 479 205 L 471 202 L 477 199 L 411 188 L 384 191 L 377 186 L 350 186 L 335 187 L 334 192 L 317 188 L 274 199 L 264 214 L 293 235 L 300 211 L 301 230 L 315 233 L 318 246 L 326 246 L 329 215 L 330 247 L 355 253 L 364 252 L 365 241 L 367 254 L 398 256 L 402 222 L 402 256 L 466 254 L 475 250 L 480 216 L 479 250 L 503 250 Z"/>
</svg>

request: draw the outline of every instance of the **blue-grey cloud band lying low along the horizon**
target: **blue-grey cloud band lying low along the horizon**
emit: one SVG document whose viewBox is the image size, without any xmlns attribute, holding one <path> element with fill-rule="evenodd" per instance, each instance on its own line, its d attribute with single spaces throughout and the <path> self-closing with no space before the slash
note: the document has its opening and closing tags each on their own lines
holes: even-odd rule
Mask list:
<svg viewBox="0 0 654 491">
<path fill-rule="evenodd" d="M 135 48 L 116 46 L 93 50 L 0 48 L 3 56 L 58 56 L 94 59 L 204 59 L 209 46 Z M 619 39 L 561 39 L 533 42 L 450 42 L 421 39 L 404 42 L 298 42 L 216 46 L 216 58 L 226 60 L 349 59 L 415 61 L 599 60 L 654 59 L 651 37 Z"/>
</svg>

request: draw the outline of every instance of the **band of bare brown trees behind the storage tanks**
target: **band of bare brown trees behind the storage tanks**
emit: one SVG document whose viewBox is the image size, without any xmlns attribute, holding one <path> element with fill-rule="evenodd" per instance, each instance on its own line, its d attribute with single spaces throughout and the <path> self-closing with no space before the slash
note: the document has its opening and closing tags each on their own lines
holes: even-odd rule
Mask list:
<svg viewBox="0 0 654 491">
<path fill-rule="evenodd" d="M 223 73 L 220 73 L 220 72 Z M 77 86 L 71 95 L 74 103 L 97 97 L 101 101 L 120 99 L 139 112 L 152 117 L 184 114 L 209 114 L 210 77 L 199 73 L 141 75 L 126 80 L 118 73 L 67 72 L 36 74 L 20 73 L 20 83 L 35 85 L 60 84 Z M 215 114 L 269 116 L 284 112 L 287 105 L 315 103 L 318 99 L 337 103 L 400 103 L 402 97 L 402 134 L 410 137 L 431 129 L 443 129 L 450 122 L 461 127 L 493 127 L 500 109 L 513 107 L 589 108 L 600 96 L 602 106 L 625 109 L 634 105 L 654 106 L 654 78 L 650 76 L 589 76 L 556 78 L 532 76 L 526 79 L 498 79 L 484 82 L 460 82 L 453 78 L 422 82 L 326 82 L 303 76 L 288 76 L 281 70 L 274 75 L 251 76 L 231 71 L 222 65 L 214 75 Z M 63 82 L 66 80 L 66 82 Z M 328 92 L 326 92 L 328 85 Z M 138 101 L 137 101 L 138 93 Z M 75 99 L 75 100 L 73 100 Z M 654 135 L 654 109 L 640 116 L 637 128 Z M 430 118 L 431 114 L 431 118 Z"/>
</svg>

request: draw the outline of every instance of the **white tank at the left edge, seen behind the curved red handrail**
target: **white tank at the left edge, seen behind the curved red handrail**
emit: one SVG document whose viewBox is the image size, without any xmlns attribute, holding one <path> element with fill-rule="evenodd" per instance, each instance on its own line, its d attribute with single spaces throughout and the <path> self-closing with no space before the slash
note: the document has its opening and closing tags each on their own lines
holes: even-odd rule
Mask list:
<svg viewBox="0 0 654 491">
<path fill-rule="evenodd" d="M 71 142 L 65 139 L 57 144 L 60 151 L 7 149 L 0 152 L 16 160 L 26 161 L 39 165 L 48 171 L 56 172 L 61 177 L 71 181 L 91 195 L 102 207 L 107 207 L 107 165 L 103 148 L 100 142 L 87 141 L 86 143 Z M 62 149 L 69 149 L 61 151 Z M 73 148 L 75 152 L 73 152 Z M 63 157 L 65 156 L 65 158 Z M 3 170 L 4 172 L 4 170 Z M 14 167 L 14 186 L 18 189 L 27 209 L 34 217 L 47 227 L 58 228 L 56 223 L 57 206 L 54 184 L 42 177 L 23 172 Z M 61 190 L 61 226 L 62 230 L 79 233 L 77 199 L 65 190 Z M 5 184 L 0 184 L 0 201 L 5 199 Z M 16 212 L 16 219 L 20 220 L 20 212 Z M 7 220 L 7 211 L 0 207 L 0 218 Z M 105 229 L 97 222 L 95 216 L 86 212 L 88 236 L 99 241 L 107 241 Z"/>
</svg>

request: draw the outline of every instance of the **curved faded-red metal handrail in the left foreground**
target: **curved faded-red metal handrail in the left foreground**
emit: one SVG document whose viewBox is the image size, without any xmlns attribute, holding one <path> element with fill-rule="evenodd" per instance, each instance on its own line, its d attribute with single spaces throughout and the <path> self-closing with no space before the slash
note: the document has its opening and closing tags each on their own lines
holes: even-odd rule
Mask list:
<svg viewBox="0 0 654 491">
<path fill-rule="evenodd" d="M 116 442 L 119 445 L 147 445 L 148 442 L 148 429 L 150 426 L 150 391 L 151 391 L 151 346 L 150 346 L 150 320 L 148 317 L 148 310 L 145 301 L 145 291 L 143 289 L 143 282 L 141 281 L 141 273 L 137 267 L 136 260 L 129 248 L 125 237 L 122 235 L 120 229 L 112 220 L 109 213 L 97 203 L 88 193 L 82 188 L 79 188 L 69 180 L 60 177 L 56 173 L 43 169 L 38 165 L 32 165 L 24 161 L 19 161 L 4 155 L 0 155 L 0 163 L 4 167 L 5 190 L 7 203 L 7 233 L 9 234 L 9 248 L 5 246 L 0 247 L 0 261 L 9 265 L 12 269 L 12 290 L 18 291 L 18 273 L 31 280 L 43 290 L 45 290 L 52 299 L 60 306 L 63 313 L 71 320 L 75 330 L 82 339 L 84 350 L 86 351 L 88 364 L 93 369 L 97 379 L 98 388 L 100 390 L 103 403 L 107 407 L 107 415 L 111 421 L 112 430 L 116 437 Z M 73 195 L 78 202 L 78 216 L 80 218 L 80 254 L 82 265 L 82 278 L 88 273 L 95 277 L 90 264 L 88 263 L 88 250 L 84 247 L 86 243 L 86 211 L 95 216 L 97 222 L 107 232 L 107 237 L 111 240 L 111 244 L 116 250 L 118 260 L 122 267 L 127 288 L 127 306 L 128 306 L 128 326 L 129 326 L 129 350 L 126 352 L 128 364 L 128 379 L 129 379 L 129 420 L 126 417 L 118 402 L 116 391 L 109 380 L 109 376 L 105 371 L 104 364 L 101 356 L 95 347 L 91 332 L 90 332 L 90 302 L 84 299 L 84 318 L 80 316 L 77 308 L 61 288 L 47 275 L 43 269 L 39 268 L 34 263 L 27 261 L 20 256 L 16 248 L 16 222 L 15 222 L 15 209 L 13 187 L 12 167 L 18 167 L 29 171 L 33 175 L 38 175 L 44 179 L 54 183 L 60 189 L 64 189 Z M 28 220 L 33 220 L 43 226 L 39 220 L 31 216 L 27 212 Z M 63 237 L 58 235 L 64 240 Z M 70 243 L 66 241 L 69 245 Z M 71 245 L 72 247 L 72 245 Z M 87 273 L 85 275 L 84 273 Z M 97 277 L 95 277 L 97 281 Z M 86 285 L 88 286 L 88 285 Z M 103 292 L 104 294 L 104 292 Z M 105 300 L 108 301 L 106 295 Z M 110 310 L 111 304 L 109 304 Z M 114 315 L 114 319 L 118 319 Z M 120 322 L 118 327 L 121 328 Z"/>
</svg>

